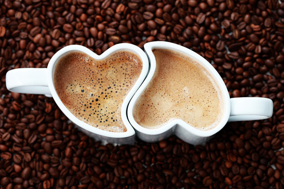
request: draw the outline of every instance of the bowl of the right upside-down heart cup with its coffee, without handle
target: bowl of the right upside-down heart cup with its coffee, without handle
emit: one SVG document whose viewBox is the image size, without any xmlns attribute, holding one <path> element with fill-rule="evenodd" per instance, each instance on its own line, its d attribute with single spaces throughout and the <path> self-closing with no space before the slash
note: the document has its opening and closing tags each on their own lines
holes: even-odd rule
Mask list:
<svg viewBox="0 0 284 189">
<path fill-rule="evenodd" d="M 145 51 L 150 71 L 128 108 L 136 135 L 155 142 L 175 134 L 192 143 L 221 130 L 229 119 L 230 99 L 215 68 L 175 44 L 152 42 Z"/>
</svg>

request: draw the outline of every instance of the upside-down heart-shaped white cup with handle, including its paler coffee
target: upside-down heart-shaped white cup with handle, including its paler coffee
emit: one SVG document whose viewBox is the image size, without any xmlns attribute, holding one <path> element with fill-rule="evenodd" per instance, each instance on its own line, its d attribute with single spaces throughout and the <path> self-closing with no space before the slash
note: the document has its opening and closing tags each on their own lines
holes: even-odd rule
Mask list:
<svg viewBox="0 0 284 189">
<path fill-rule="evenodd" d="M 188 143 L 202 144 L 220 131 L 228 121 L 261 120 L 268 119 L 272 116 L 273 103 L 271 99 L 258 97 L 230 99 L 227 87 L 219 73 L 207 60 L 197 53 L 169 42 L 150 42 L 145 44 L 144 48 L 149 57 L 150 70 L 147 78 L 131 99 L 127 109 L 129 122 L 135 129 L 136 136 L 140 139 L 147 142 L 156 142 L 174 134 Z M 160 57 L 158 59 L 155 57 L 153 50 L 155 50 L 155 53 L 160 51 Z M 159 61 L 156 62 L 156 60 Z M 183 64 L 179 62 L 183 62 Z M 195 67 L 198 67 L 198 69 Z M 156 68 L 158 70 L 157 72 Z M 194 72 L 192 70 L 195 70 L 195 73 L 198 72 L 199 74 L 199 72 L 202 72 L 202 74 L 205 75 L 202 80 L 196 82 L 199 82 L 198 84 L 194 83 L 194 79 L 198 74 L 195 74 L 194 77 L 190 76 L 190 74 Z M 162 75 L 159 75 L 160 72 Z M 170 74 L 171 72 L 174 73 L 174 75 Z M 199 74 L 199 77 L 201 77 L 200 75 L 201 74 Z M 210 75 L 210 77 L 206 75 Z M 168 78 L 170 81 L 167 80 Z M 186 82 L 184 83 L 184 81 Z M 207 83 L 205 83 L 205 81 Z M 158 83 L 160 84 L 158 85 Z M 206 90 L 204 90 L 205 85 L 209 86 L 208 83 L 214 83 L 214 85 L 212 85 L 213 87 L 207 87 Z M 203 96 L 200 99 L 199 95 L 197 95 L 198 93 L 195 93 L 195 96 L 192 95 L 194 91 L 198 90 L 203 90 L 202 93 L 200 92 L 199 94 Z M 214 102 L 216 104 L 219 104 L 219 101 L 222 102 L 220 102 L 218 108 L 212 110 L 209 109 L 209 106 L 211 106 L 210 102 L 213 102 L 213 97 L 210 96 L 216 94 L 216 91 L 220 93 L 220 95 L 217 96 L 218 98 L 214 97 Z M 182 98 L 173 98 L 172 96 L 175 94 L 182 96 Z M 190 98 L 188 98 L 188 96 L 190 96 Z M 138 101 L 140 98 L 142 100 Z M 195 101 L 193 101 L 194 98 Z M 210 99 L 208 100 L 208 98 Z M 179 101 L 176 101 L 176 99 L 179 99 Z M 203 104 L 201 104 L 200 101 L 203 101 L 201 102 Z M 136 103 L 138 104 L 137 106 L 135 106 Z M 198 107 L 197 105 L 193 105 L 194 103 L 198 104 Z M 176 110 L 176 106 L 182 108 L 184 106 L 187 107 L 182 111 L 178 111 Z M 204 108 L 202 109 L 200 106 Z M 156 124 L 158 119 L 162 118 L 161 120 L 164 120 L 164 117 L 171 115 L 166 115 L 165 109 L 168 110 L 167 112 L 173 110 L 174 114 L 180 112 L 179 114 L 185 115 L 188 111 L 193 112 L 193 114 L 202 112 L 202 114 L 199 114 L 201 116 L 198 115 L 199 117 L 194 120 L 198 120 L 201 124 L 203 124 L 202 121 L 200 122 L 201 118 L 204 122 L 207 121 L 206 119 L 211 116 L 211 112 L 214 110 L 220 112 L 219 115 L 221 116 L 218 118 L 214 117 L 216 119 L 216 121 L 212 122 L 214 127 L 210 127 L 209 130 L 197 129 L 195 125 L 190 125 L 188 122 L 185 122 L 180 115 L 176 116 L 179 118 L 170 117 L 172 119 L 165 120 L 158 126 L 154 125 L 153 123 L 155 122 Z M 134 113 L 136 116 L 135 119 Z M 191 119 L 190 116 L 186 116 L 186 118 Z M 155 127 L 153 127 L 153 125 Z"/>
</svg>

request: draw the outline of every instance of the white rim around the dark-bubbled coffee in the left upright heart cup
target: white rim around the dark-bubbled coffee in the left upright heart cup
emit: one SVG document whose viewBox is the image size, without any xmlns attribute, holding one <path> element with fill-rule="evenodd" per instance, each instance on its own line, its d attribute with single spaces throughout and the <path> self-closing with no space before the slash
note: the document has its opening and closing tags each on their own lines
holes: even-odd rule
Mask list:
<svg viewBox="0 0 284 189">
<path fill-rule="evenodd" d="M 78 118 L 76 118 L 60 100 L 59 96 L 56 93 L 54 83 L 53 83 L 54 69 L 55 69 L 56 63 L 58 62 L 58 60 L 61 57 L 63 57 L 64 55 L 66 55 L 69 52 L 74 52 L 74 51 L 83 52 L 83 53 L 93 57 L 96 60 L 105 59 L 109 55 L 111 55 L 115 52 L 119 52 L 119 51 L 130 51 L 130 52 L 133 52 L 140 57 L 141 61 L 143 62 L 143 68 L 141 70 L 141 73 L 140 73 L 139 78 L 137 79 L 136 83 L 134 84 L 134 86 L 132 87 L 130 92 L 125 97 L 124 102 L 123 102 L 122 107 L 121 107 L 121 116 L 122 116 L 122 121 L 123 121 L 123 123 L 124 123 L 124 125 L 127 129 L 126 132 L 110 132 L 110 131 L 105 131 L 105 130 L 95 128 L 95 127 L 79 120 Z M 63 114 L 70 121 L 72 121 L 73 123 L 75 123 L 79 127 L 83 128 L 83 129 L 85 129 L 85 130 L 87 130 L 91 133 L 95 133 L 95 134 L 98 134 L 98 135 L 101 135 L 101 136 L 111 137 L 111 138 L 126 138 L 126 137 L 129 137 L 129 136 L 135 135 L 135 131 L 131 127 L 130 123 L 128 122 L 127 116 L 126 116 L 127 105 L 129 103 L 130 99 L 132 98 L 132 96 L 134 95 L 134 93 L 137 91 L 137 89 L 141 85 L 141 83 L 146 78 L 148 70 L 149 70 L 149 61 L 148 61 L 146 54 L 143 52 L 143 50 L 141 50 L 140 48 L 138 48 L 137 46 L 132 45 L 132 44 L 126 44 L 125 43 L 125 44 L 114 45 L 111 48 L 109 48 L 107 51 L 103 52 L 101 55 L 97 55 L 94 52 L 92 52 L 91 50 L 89 50 L 88 48 L 81 46 L 81 45 L 69 45 L 69 46 L 66 46 L 66 47 L 60 49 L 58 52 L 56 52 L 52 56 L 51 60 L 49 61 L 48 67 L 47 67 L 47 80 L 48 80 L 48 86 L 49 86 L 49 89 L 50 89 L 50 92 L 51 92 L 53 99 L 55 100 L 56 104 L 61 109 Z"/>
</svg>

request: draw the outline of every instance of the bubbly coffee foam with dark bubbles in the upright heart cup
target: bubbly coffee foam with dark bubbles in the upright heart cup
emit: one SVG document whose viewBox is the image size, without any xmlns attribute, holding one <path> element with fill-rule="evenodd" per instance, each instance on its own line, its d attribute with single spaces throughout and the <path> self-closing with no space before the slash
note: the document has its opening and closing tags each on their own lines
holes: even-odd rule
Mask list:
<svg viewBox="0 0 284 189">
<path fill-rule="evenodd" d="M 105 131 L 126 132 L 121 106 L 142 66 L 140 58 L 127 51 L 104 60 L 72 52 L 57 63 L 54 85 L 62 103 L 79 120 Z"/>
</svg>

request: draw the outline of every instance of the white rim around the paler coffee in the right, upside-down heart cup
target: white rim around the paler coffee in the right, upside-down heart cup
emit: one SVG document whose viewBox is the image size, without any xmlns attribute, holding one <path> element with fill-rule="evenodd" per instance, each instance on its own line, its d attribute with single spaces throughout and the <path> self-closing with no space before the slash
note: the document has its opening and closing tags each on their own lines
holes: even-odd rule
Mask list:
<svg viewBox="0 0 284 189">
<path fill-rule="evenodd" d="M 147 134 L 147 135 L 162 134 L 164 132 L 167 132 L 170 129 L 175 129 L 176 125 L 179 125 L 180 127 L 184 127 L 188 132 L 190 132 L 190 133 L 192 133 L 196 136 L 201 136 L 201 137 L 211 136 L 211 135 L 216 134 L 218 131 L 220 131 L 226 125 L 226 123 L 229 120 L 231 104 L 230 104 L 230 97 L 229 97 L 227 87 L 226 87 L 224 81 L 222 80 L 220 74 L 216 71 L 216 69 L 205 58 L 203 58 L 199 54 L 197 54 L 197 53 L 195 53 L 195 52 L 191 51 L 190 49 L 187 49 L 183 46 L 177 45 L 177 44 L 173 44 L 173 43 L 170 43 L 170 42 L 149 42 L 149 43 L 146 43 L 144 45 L 144 48 L 145 48 L 146 54 L 148 55 L 148 58 L 150 60 L 149 61 L 150 62 L 150 70 L 149 70 L 149 73 L 148 73 L 145 81 L 143 82 L 143 84 L 140 86 L 140 88 L 137 90 L 137 92 L 132 97 L 132 99 L 129 103 L 128 109 L 127 109 L 128 119 L 129 119 L 129 122 L 132 125 L 132 127 L 135 130 L 137 130 L 138 132 L 144 133 L 144 134 Z M 202 131 L 202 130 L 198 130 L 198 129 L 190 126 L 189 124 L 187 124 L 183 120 L 173 120 L 173 121 L 165 124 L 164 126 L 162 126 L 160 128 L 148 129 L 148 128 L 140 126 L 134 120 L 134 118 L 133 118 L 133 107 L 134 107 L 137 99 L 139 98 L 139 96 L 144 92 L 147 85 L 152 80 L 152 77 L 153 77 L 154 72 L 155 72 L 156 61 L 155 61 L 154 54 L 152 52 L 153 49 L 167 49 L 167 50 L 176 51 L 176 52 L 182 53 L 186 56 L 189 56 L 190 58 L 192 58 L 196 62 L 200 63 L 212 75 L 212 77 L 215 79 L 215 81 L 217 82 L 217 84 L 218 84 L 218 86 L 219 86 L 219 88 L 222 92 L 222 96 L 223 96 L 223 100 L 224 100 L 223 117 L 216 127 L 212 128 L 210 130 L 207 130 L 207 131 Z"/>
</svg>

